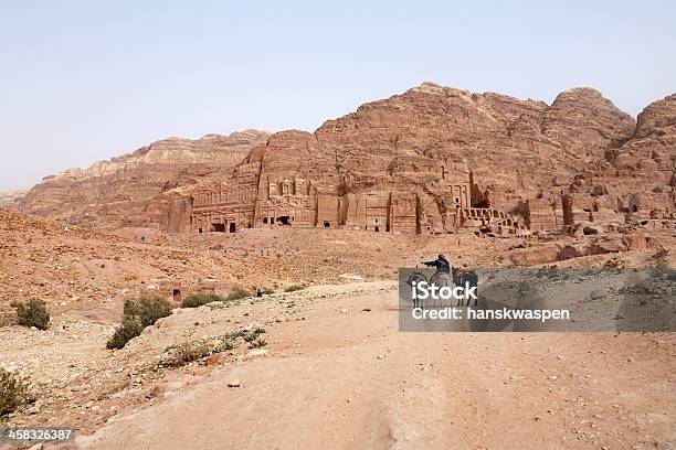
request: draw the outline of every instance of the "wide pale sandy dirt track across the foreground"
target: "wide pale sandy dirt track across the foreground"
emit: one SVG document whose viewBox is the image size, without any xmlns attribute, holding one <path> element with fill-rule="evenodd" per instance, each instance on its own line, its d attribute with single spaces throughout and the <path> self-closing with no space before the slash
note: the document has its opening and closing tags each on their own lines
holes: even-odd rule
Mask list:
<svg viewBox="0 0 676 450">
<path fill-rule="evenodd" d="M 311 301 L 298 296 L 305 320 L 266 335 L 267 354 L 190 385 L 167 383 L 160 401 L 76 442 L 87 449 L 676 442 L 670 334 L 401 333 L 392 282 L 313 289 Z"/>
</svg>

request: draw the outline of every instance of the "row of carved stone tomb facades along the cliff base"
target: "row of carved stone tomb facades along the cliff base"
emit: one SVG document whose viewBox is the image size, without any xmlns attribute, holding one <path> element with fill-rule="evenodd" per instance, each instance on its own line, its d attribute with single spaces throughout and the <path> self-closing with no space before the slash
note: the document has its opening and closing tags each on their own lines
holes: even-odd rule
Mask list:
<svg viewBox="0 0 676 450">
<path fill-rule="evenodd" d="M 243 164 L 229 184 L 196 194 L 192 231 L 234 233 L 253 226 L 345 226 L 420 234 L 492 226 L 498 234 L 516 234 L 526 229 L 522 218 L 496 208 L 475 207 L 476 190 L 469 181 L 443 185 L 442 214 L 436 203 L 424 207 L 416 192 L 382 189 L 350 192 L 346 180 L 336 186 L 298 176 L 262 178 L 257 173 L 260 168 L 260 163 Z M 435 216 L 442 217 L 441 223 L 433 219 Z"/>
</svg>

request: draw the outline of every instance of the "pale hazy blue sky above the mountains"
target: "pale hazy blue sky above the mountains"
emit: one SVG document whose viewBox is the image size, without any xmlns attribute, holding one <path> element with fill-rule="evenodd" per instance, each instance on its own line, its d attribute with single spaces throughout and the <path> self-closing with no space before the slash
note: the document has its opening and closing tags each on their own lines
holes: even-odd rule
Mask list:
<svg viewBox="0 0 676 450">
<path fill-rule="evenodd" d="M 0 0 L 0 191 L 171 136 L 313 131 L 431 81 L 636 116 L 676 92 L 676 1 Z"/>
</svg>

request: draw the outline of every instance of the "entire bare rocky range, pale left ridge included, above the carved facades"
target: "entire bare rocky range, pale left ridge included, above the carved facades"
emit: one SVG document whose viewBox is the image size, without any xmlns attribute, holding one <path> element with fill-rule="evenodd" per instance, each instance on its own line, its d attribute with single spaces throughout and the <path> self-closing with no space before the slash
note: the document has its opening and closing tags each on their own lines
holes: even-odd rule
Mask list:
<svg viewBox="0 0 676 450">
<path fill-rule="evenodd" d="M 439 216 L 452 207 L 444 203 L 448 183 L 467 183 L 472 173 L 473 196 L 506 213 L 527 199 L 560 200 L 562 189 L 572 186 L 640 193 L 646 214 L 670 214 L 675 117 L 675 95 L 647 106 L 635 121 L 591 88 L 566 90 L 548 105 L 423 83 L 315 132 L 156 142 L 86 171 L 47 178 L 22 208 L 70 223 L 183 231 L 191 194 L 219 182 L 221 192 L 236 186 L 242 179 L 232 178 L 231 169 L 243 161 L 243 170 L 260 168 L 258 203 L 270 181 L 298 178 L 338 196 L 413 192 L 424 211 Z"/>
</svg>

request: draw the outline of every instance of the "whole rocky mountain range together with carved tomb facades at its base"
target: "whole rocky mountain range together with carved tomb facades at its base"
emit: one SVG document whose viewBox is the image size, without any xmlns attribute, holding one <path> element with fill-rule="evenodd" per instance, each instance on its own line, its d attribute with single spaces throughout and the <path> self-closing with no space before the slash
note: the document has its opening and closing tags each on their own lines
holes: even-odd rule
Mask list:
<svg viewBox="0 0 676 450">
<path fill-rule="evenodd" d="M 636 124 L 590 88 L 547 105 L 423 83 L 311 133 L 256 135 L 236 167 L 201 159 L 197 170 L 192 156 L 204 153 L 182 149 L 207 138 L 168 140 L 166 151 L 146 157 L 154 163 L 145 167 L 163 171 L 161 185 L 155 175 L 106 175 L 127 171 L 125 158 L 144 158 L 156 143 L 91 168 L 86 181 L 80 172 L 45 181 L 24 208 L 170 232 L 279 225 L 522 235 L 595 229 L 580 223 L 673 226 L 675 103 L 656 101 Z"/>
</svg>

